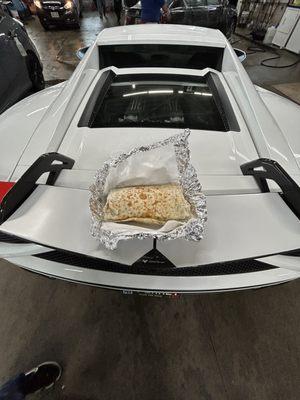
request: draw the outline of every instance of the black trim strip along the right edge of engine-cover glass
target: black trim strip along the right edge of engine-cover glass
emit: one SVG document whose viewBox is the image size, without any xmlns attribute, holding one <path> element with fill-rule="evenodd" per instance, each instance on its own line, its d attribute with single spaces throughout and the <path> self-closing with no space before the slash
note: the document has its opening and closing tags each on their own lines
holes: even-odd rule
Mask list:
<svg viewBox="0 0 300 400">
<path fill-rule="evenodd" d="M 211 72 L 207 82 L 227 130 L 240 132 L 235 113 L 220 78 Z"/>
</svg>

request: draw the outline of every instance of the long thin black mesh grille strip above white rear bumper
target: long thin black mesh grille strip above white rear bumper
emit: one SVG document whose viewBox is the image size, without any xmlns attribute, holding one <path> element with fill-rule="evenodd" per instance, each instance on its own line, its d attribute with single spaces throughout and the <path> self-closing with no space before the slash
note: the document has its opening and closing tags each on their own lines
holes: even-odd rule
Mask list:
<svg viewBox="0 0 300 400">
<path fill-rule="evenodd" d="M 109 260 L 102 260 L 59 250 L 36 254 L 33 257 L 73 267 L 136 275 L 214 276 L 259 272 L 277 268 L 254 259 L 228 261 L 184 268 L 174 268 L 174 266 L 166 266 L 162 268 L 161 264 L 155 266 L 147 263 L 145 265 L 143 262 L 136 262 L 133 265 L 124 265 Z"/>
</svg>

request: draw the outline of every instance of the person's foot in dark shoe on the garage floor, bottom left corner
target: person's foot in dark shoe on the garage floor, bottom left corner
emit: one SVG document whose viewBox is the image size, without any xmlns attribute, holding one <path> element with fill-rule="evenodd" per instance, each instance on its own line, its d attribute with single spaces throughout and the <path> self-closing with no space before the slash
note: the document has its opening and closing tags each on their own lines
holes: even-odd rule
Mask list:
<svg viewBox="0 0 300 400">
<path fill-rule="evenodd" d="M 61 377 L 61 373 L 62 368 L 56 362 L 42 363 L 0 387 L 0 400 L 23 400 L 28 394 L 50 389 Z"/>
</svg>

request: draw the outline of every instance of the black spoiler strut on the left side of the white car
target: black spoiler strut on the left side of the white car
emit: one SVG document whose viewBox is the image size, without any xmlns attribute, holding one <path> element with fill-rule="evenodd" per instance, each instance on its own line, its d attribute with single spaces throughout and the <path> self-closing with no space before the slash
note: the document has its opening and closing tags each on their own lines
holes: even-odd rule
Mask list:
<svg viewBox="0 0 300 400">
<path fill-rule="evenodd" d="M 49 173 L 46 185 L 54 185 L 63 169 L 71 169 L 72 158 L 59 153 L 41 155 L 9 190 L 0 204 L 0 225 L 6 221 L 37 187 L 36 182 L 45 173 Z"/>
</svg>

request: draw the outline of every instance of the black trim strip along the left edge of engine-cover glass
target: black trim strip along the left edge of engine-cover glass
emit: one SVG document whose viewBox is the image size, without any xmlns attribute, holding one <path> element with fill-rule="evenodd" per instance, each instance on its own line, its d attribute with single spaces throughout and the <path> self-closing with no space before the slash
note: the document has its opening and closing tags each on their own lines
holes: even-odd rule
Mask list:
<svg viewBox="0 0 300 400">
<path fill-rule="evenodd" d="M 93 125 L 95 116 L 98 114 L 102 101 L 115 76 L 116 74 L 111 69 L 101 74 L 78 122 L 79 128 L 84 126 L 91 127 Z"/>
</svg>

